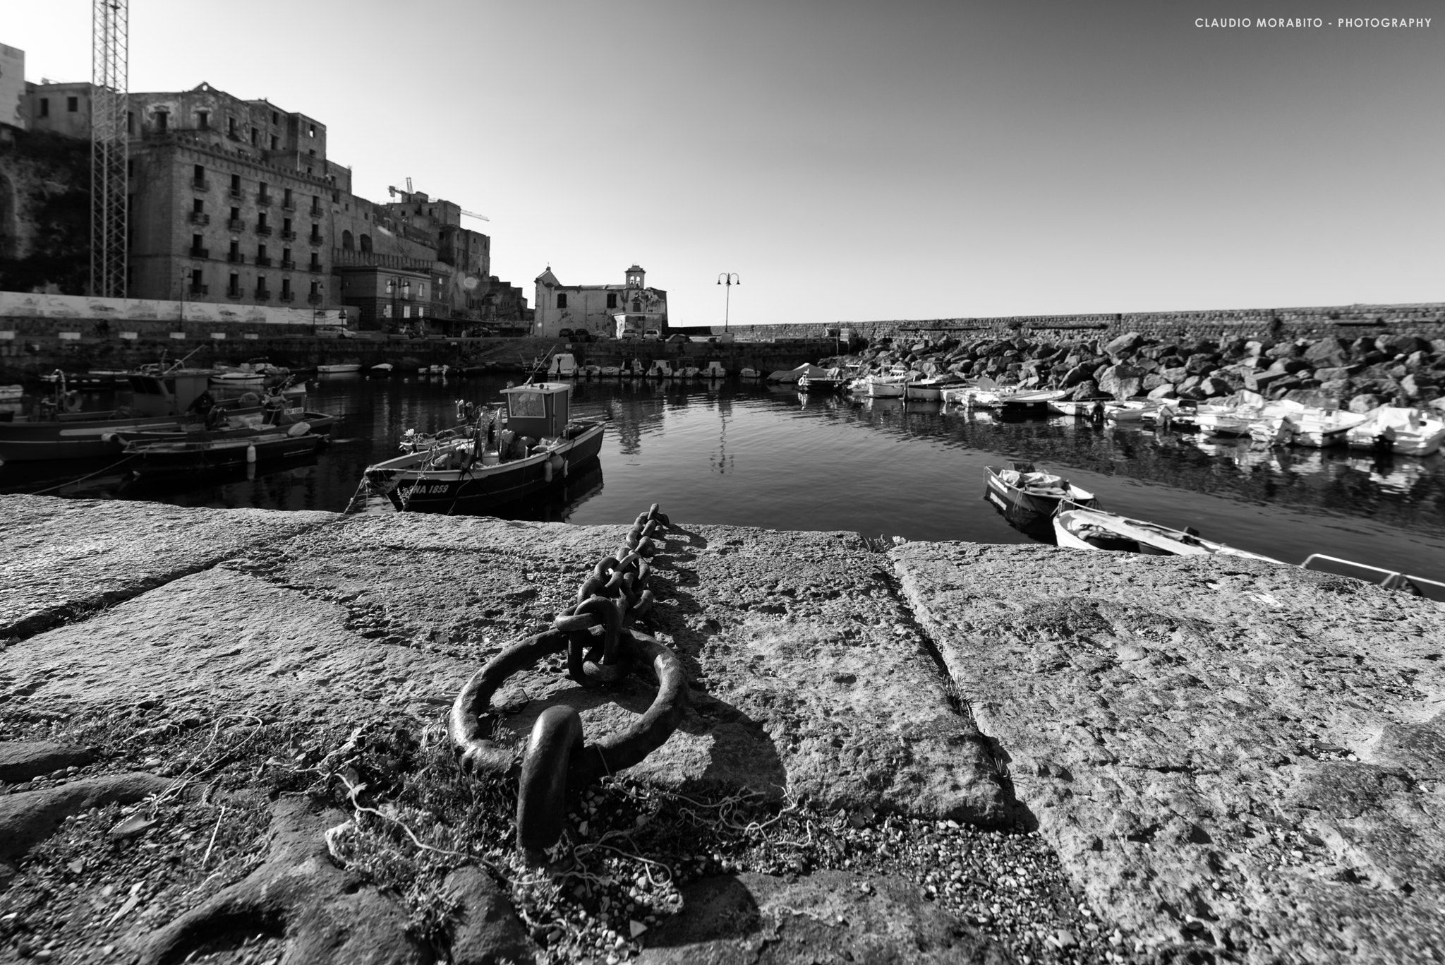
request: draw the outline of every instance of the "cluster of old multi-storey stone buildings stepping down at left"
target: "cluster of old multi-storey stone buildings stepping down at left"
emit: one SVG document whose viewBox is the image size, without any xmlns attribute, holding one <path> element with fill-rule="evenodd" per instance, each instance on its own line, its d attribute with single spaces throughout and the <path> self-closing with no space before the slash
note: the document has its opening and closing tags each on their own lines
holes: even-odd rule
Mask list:
<svg viewBox="0 0 1445 965">
<path fill-rule="evenodd" d="M 376 204 L 327 158 L 327 127 L 269 101 L 201 84 L 130 94 L 131 298 L 347 307 L 363 327 L 527 317 L 520 289 L 491 275 L 491 239 L 460 205 L 403 191 Z M 38 132 L 90 137 L 90 84 L 26 84 Z"/>
</svg>

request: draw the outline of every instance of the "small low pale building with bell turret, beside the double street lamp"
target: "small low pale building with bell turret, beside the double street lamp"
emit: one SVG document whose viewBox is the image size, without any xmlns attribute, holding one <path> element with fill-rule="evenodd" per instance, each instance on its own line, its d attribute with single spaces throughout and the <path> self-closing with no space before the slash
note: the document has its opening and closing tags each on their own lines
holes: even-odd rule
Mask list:
<svg viewBox="0 0 1445 965">
<path fill-rule="evenodd" d="M 647 288 L 647 273 L 637 265 L 624 278 L 621 285 L 564 285 L 548 265 L 536 278 L 533 334 L 556 337 L 562 328 L 597 339 L 640 336 L 647 328 L 666 334 L 668 292 Z"/>
</svg>

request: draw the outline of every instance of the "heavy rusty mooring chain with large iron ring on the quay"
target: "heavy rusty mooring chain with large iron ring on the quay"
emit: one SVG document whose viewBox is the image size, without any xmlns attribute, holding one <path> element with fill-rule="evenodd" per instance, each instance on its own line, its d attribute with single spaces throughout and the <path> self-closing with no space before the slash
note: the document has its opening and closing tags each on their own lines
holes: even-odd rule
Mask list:
<svg viewBox="0 0 1445 965">
<path fill-rule="evenodd" d="M 448 732 L 462 770 L 494 775 L 519 770 L 517 846 L 529 856 L 539 856 L 561 838 L 568 793 L 640 762 L 682 720 L 688 703 L 682 663 L 668 647 L 630 628 L 656 603 L 647 586 L 650 560 L 657 553 L 653 535 L 668 525 L 657 503 L 639 514 L 617 553 L 603 557 L 582 580 L 577 603 L 558 613 L 549 629 L 493 657 L 452 703 Z M 597 628 L 600 639 L 592 632 Z M 657 677 L 657 696 L 627 728 L 591 744 L 574 707 L 548 707 L 532 728 L 519 768 L 514 749 L 483 736 L 491 697 L 512 674 L 564 650 L 566 673 L 582 687 L 614 684 L 631 670 L 650 667 Z"/>
</svg>

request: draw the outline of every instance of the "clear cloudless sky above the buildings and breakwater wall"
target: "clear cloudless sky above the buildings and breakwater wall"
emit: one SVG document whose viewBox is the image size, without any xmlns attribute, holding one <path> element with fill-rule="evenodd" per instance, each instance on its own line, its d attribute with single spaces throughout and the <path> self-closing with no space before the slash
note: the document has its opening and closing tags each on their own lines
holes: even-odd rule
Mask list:
<svg viewBox="0 0 1445 965">
<path fill-rule="evenodd" d="M 88 80 L 90 10 L 0 43 Z M 202 81 L 487 214 L 529 304 L 634 262 L 675 326 L 1445 301 L 1445 0 L 131 0 L 130 90 Z"/>
</svg>

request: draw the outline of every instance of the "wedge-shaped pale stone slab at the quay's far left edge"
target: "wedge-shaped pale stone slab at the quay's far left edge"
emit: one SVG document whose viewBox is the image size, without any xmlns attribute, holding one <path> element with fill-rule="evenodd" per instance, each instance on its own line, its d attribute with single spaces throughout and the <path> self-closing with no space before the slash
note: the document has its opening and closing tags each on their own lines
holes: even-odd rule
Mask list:
<svg viewBox="0 0 1445 965">
<path fill-rule="evenodd" d="M 0 496 L 0 638 L 27 637 L 338 518 Z"/>
</svg>

